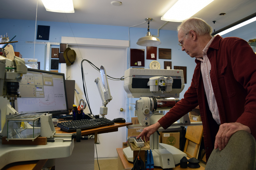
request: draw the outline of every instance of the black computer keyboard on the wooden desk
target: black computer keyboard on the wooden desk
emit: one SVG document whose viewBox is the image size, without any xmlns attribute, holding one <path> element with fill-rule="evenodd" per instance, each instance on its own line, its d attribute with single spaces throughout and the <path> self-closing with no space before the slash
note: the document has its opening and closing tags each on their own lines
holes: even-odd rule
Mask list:
<svg viewBox="0 0 256 170">
<path fill-rule="evenodd" d="M 86 130 L 113 124 L 115 124 L 114 121 L 101 117 L 98 119 L 84 119 L 78 121 L 61 122 L 58 123 L 57 126 L 66 132 L 75 132 L 76 129 Z"/>
</svg>

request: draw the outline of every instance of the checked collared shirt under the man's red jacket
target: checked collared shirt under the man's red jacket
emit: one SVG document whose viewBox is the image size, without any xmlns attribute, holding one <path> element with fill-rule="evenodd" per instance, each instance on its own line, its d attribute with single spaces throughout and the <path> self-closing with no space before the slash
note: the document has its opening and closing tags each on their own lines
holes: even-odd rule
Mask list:
<svg viewBox="0 0 256 170">
<path fill-rule="evenodd" d="M 206 54 L 213 39 L 214 39 L 214 37 L 212 37 L 212 39 L 207 43 L 207 45 L 203 49 L 203 58 L 196 58 L 196 59 L 201 61 L 201 72 L 202 72 L 202 77 L 203 77 L 203 82 L 204 82 L 204 90 L 206 93 L 210 111 L 212 112 L 212 117 L 220 125 L 219 109 L 218 109 L 217 102 L 216 102 L 216 99 L 215 99 L 215 96 L 213 93 L 213 89 L 212 89 L 211 63 Z"/>
</svg>

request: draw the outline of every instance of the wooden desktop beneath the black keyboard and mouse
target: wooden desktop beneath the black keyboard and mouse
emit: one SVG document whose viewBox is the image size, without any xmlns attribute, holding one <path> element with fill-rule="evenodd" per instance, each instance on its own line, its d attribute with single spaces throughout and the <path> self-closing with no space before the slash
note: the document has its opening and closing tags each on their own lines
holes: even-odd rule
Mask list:
<svg viewBox="0 0 256 170">
<path fill-rule="evenodd" d="M 82 130 L 82 136 L 94 135 L 95 132 L 97 132 L 98 134 L 108 133 L 108 132 L 116 132 L 116 131 L 118 131 L 118 128 L 124 127 L 124 126 L 129 126 L 129 125 L 132 125 L 132 123 L 129 123 L 129 122 L 115 123 L 114 125 L 103 126 L 100 128 Z M 60 130 L 59 127 L 56 127 L 55 129 L 56 129 L 56 133 L 76 133 L 76 132 L 66 132 L 64 130 Z"/>
</svg>

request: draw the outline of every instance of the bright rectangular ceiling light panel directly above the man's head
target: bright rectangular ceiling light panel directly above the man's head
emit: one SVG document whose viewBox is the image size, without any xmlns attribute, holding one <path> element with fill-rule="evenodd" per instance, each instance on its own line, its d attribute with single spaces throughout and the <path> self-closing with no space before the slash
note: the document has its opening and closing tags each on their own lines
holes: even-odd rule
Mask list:
<svg viewBox="0 0 256 170">
<path fill-rule="evenodd" d="M 192 17 L 198 11 L 210 4 L 213 0 L 179 0 L 162 17 L 161 20 L 182 22 Z"/>
</svg>

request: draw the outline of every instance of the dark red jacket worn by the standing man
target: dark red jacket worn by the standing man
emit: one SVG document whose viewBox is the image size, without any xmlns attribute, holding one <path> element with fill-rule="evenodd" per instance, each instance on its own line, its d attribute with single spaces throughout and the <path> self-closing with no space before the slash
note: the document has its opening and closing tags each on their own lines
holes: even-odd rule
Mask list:
<svg viewBox="0 0 256 170">
<path fill-rule="evenodd" d="M 248 126 L 256 137 L 256 55 L 248 43 L 237 37 L 217 35 L 207 51 L 211 63 L 211 82 L 220 113 L 220 122 L 239 122 Z M 204 127 L 204 145 L 208 160 L 214 149 L 218 128 L 206 113 L 201 61 L 196 61 L 192 82 L 184 99 L 158 122 L 164 129 L 197 105 Z M 216 123 L 215 123 L 216 124 Z"/>
</svg>

